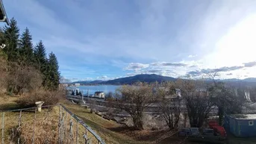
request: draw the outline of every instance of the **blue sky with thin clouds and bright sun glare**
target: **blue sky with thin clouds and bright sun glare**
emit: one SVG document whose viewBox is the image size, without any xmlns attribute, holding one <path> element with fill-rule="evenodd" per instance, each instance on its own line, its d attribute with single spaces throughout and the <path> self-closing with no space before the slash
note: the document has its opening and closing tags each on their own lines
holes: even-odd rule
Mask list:
<svg viewBox="0 0 256 144">
<path fill-rule="evenodd" d="M 255 0 L 3 0 L 70 81 L 256 78 Z M 4 25 L 4 24 L 1 24 Z"/>
</svg>

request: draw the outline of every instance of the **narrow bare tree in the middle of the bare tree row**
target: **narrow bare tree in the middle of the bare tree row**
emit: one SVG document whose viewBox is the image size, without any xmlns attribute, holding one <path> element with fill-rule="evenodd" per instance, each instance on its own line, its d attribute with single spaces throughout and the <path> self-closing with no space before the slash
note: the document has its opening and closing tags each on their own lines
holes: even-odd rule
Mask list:
<svg viewBox="0 0 256 144">
<path fill-rule="evenodd" d="M 157 104 L 169 129 L 178 128 L 181 115 L 181 98 L 176 94 L 173 82 L 164 82 L 157 87 Z"/>
</svg>

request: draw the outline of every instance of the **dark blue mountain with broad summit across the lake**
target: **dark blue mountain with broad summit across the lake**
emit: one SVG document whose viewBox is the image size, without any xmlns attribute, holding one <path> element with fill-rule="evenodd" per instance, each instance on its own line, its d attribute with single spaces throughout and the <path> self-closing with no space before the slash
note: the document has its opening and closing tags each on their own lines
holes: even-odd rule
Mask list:
<svg viewBox="0 0 256 144">
<path fill-rule="evenodd" d="M 118 79 L 114 79 L 114 80 L 110 80 L 110 81 L 104 81 L 103 84 L 134 84 L 137 81 L 142 81 L 142 82 L 147 82 L 147 83 L 151 83 L 151 82 L 162 82 L 162 81 L 175 81 L 176 78 L 172 78 L 172 77 L 166 77 L 166 76 L 162 76 L 162 75 L 155 75 L 155 74 L 151 74 L 151 75 L 135 75 L 135 76 L 131 76 L 131 77 L 126 77 L 126 78 L 118 78 Z"/>
</svg>

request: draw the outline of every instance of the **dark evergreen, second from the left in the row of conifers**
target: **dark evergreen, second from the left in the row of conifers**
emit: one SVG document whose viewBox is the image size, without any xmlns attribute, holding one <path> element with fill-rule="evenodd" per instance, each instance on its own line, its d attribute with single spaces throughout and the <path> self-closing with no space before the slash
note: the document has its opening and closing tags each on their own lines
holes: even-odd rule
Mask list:
<svg viewBox="0 0 256 144">
<path fill-rule="evenodd" d="M 19 46 L 19 62 L 25 63 L 27 66 L 34 63 L 32 36 L 28 28 L 25 28 L 25 31 L 22 33 Z"/>
</svg>

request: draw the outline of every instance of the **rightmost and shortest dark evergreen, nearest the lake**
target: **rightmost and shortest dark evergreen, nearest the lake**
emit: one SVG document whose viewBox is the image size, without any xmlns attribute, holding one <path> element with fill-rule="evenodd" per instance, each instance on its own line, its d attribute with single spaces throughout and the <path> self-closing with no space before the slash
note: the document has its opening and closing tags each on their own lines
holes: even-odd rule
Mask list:
<svg viewBox="0 0 256 144">
<path fill-rule="evenodd" d="M 60 84 L 60 72 L 57 57 L 52 52 L 49 54 L 46 73 L 46 87 L 49 90 L 57 90 Z"/>
</svg>

